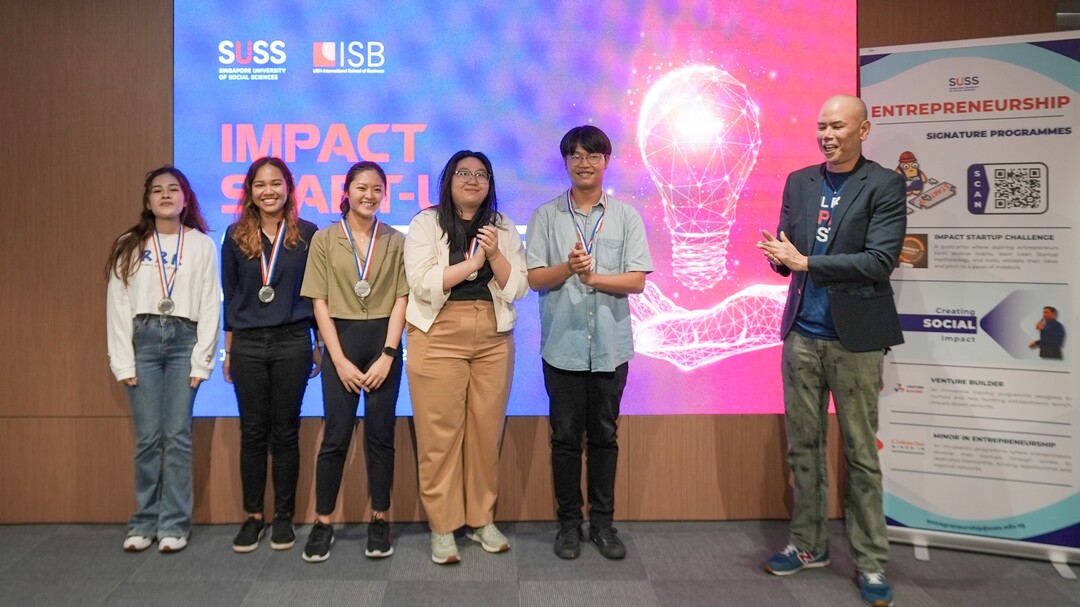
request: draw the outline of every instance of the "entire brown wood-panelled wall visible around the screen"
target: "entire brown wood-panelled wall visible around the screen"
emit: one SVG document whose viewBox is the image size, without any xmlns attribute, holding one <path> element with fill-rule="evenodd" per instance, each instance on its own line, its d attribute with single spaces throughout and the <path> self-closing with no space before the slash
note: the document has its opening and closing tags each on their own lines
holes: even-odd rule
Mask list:
<svg viewBox="0 0 1080 607">
<path fill-rule="evenodd" d="M 1053 0 L 859 8 L 862 46 L 1055 30 Z M 137 217 L 145 173 L 172 159 L 172 9 L 171 0 L 0 2 L 0 523 L 117 523 L 131 513 L 132 424 L 105 356 L 102 267 Z M 422 520 L 410 423 L 397 427 L 396 521 Z M 624 418 L 618 516 L 786 517 L 782 428 L 778 416 Z M 314 515 L 320 432 L 320 420 L 303 421 L 302 520 Z M 834 428 L 834 477 L 842 474 L 835 439 Z M 367 517 L 360 444 L 357 432 L 338 520 Z M 238 445 L 235 419 L 195 421 L 198 522 L 242 518 Z M 497 518 L 554 516 L 544 418 L 508 420 L 501 478 Z"/>
</svg>

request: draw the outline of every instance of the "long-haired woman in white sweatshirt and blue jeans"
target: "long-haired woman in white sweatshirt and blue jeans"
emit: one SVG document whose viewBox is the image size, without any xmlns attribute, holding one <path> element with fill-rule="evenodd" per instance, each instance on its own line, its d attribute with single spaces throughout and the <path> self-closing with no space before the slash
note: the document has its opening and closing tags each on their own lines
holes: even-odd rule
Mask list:
<svg viewBox="0 0 1080 607">
<path fill-rule="evenodd" d="M 191 530 L 191 406 L 217 354 L 217 246 L 187 177 L 147 174 L 139 222 L 113 243 L 109 366 L 135 421 L 135 501 L 124 550 L 184 550 Z"/>
</svg>

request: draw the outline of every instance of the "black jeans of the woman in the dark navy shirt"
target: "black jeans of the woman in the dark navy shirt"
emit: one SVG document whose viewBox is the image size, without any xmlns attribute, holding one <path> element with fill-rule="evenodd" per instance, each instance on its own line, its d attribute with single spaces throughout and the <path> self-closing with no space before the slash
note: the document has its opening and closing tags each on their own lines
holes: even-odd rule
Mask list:
<svg viewBox="0 0 1080 607">
<path fill-rule="evenodd" d="M 234 331 L 229 359 L 240 405 L 244 511 L 262 512 L 269 444 L 274 514 L 291 517 L 300 474 L 300 403 L 311 375 L 311 322 Z"/>
</svg>

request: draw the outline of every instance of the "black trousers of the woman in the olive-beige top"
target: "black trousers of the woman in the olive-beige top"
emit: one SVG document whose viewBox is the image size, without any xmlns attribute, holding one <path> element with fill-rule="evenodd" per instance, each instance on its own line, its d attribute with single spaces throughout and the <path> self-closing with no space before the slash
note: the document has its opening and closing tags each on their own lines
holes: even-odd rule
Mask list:
<svg viewBox="0 0 1080 607">
<path fill-rule="evenodd" d="M 346 321 L 334 319 L 341 350 L 354 365 L 366 372 L 382 355 L 390 319 Z M 378 390 L 364 394 L 364 456 L 367 460 L 367 490 L 372 510 L 390 509 L 394 478 L 394 426 L 397 422 L 397 392 L 402 381 L 402 348 L 390 374 Z M 360 394 L 345 389 L 330 361 L 323 364 L 323 446 L 315 462 L 315 513 L 334 513 L 345 460 L 352 444 Z"/>
</svg>

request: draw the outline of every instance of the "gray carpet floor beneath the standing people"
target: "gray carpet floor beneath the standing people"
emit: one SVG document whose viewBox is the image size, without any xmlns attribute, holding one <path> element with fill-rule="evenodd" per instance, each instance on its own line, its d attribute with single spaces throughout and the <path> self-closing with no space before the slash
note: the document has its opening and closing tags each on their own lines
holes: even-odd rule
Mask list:
<svg viewBox="0 0 1080 607">
<path fill-rule="evenodd" d="M 831 523 L 832 566 L 777 578 L 761 570 L 783 547 L 786 523 L 617 523 L 624 561 L 583 545 L 577 561 L 552 552 L 553 523 L 502 524 L 511 551 L 487 554 L 463 537 L 461 563 L 429 559 L 421 524 L 392 525 L 394 554 L 364 557 L 366 525 L 337 526 L 330 558 L 300 558 L 297 544 L 268 539 L 234 554 L 237 525 L 195 527 L 187 550 L 163 555 L 121 550 L 122 525 L 0 526 L 2 606 L 781 606 L 862 605 L 843 527 Z M 588 527 L 586 527 L 588 529 Z M 586 530 L 588 535 L 588 530 Z M 1080 582 L 1044 562 L 948 550 L 916 561 L 893 544 L 887 571 L 897 606 L 1080 605 Z"/>
</svg>

